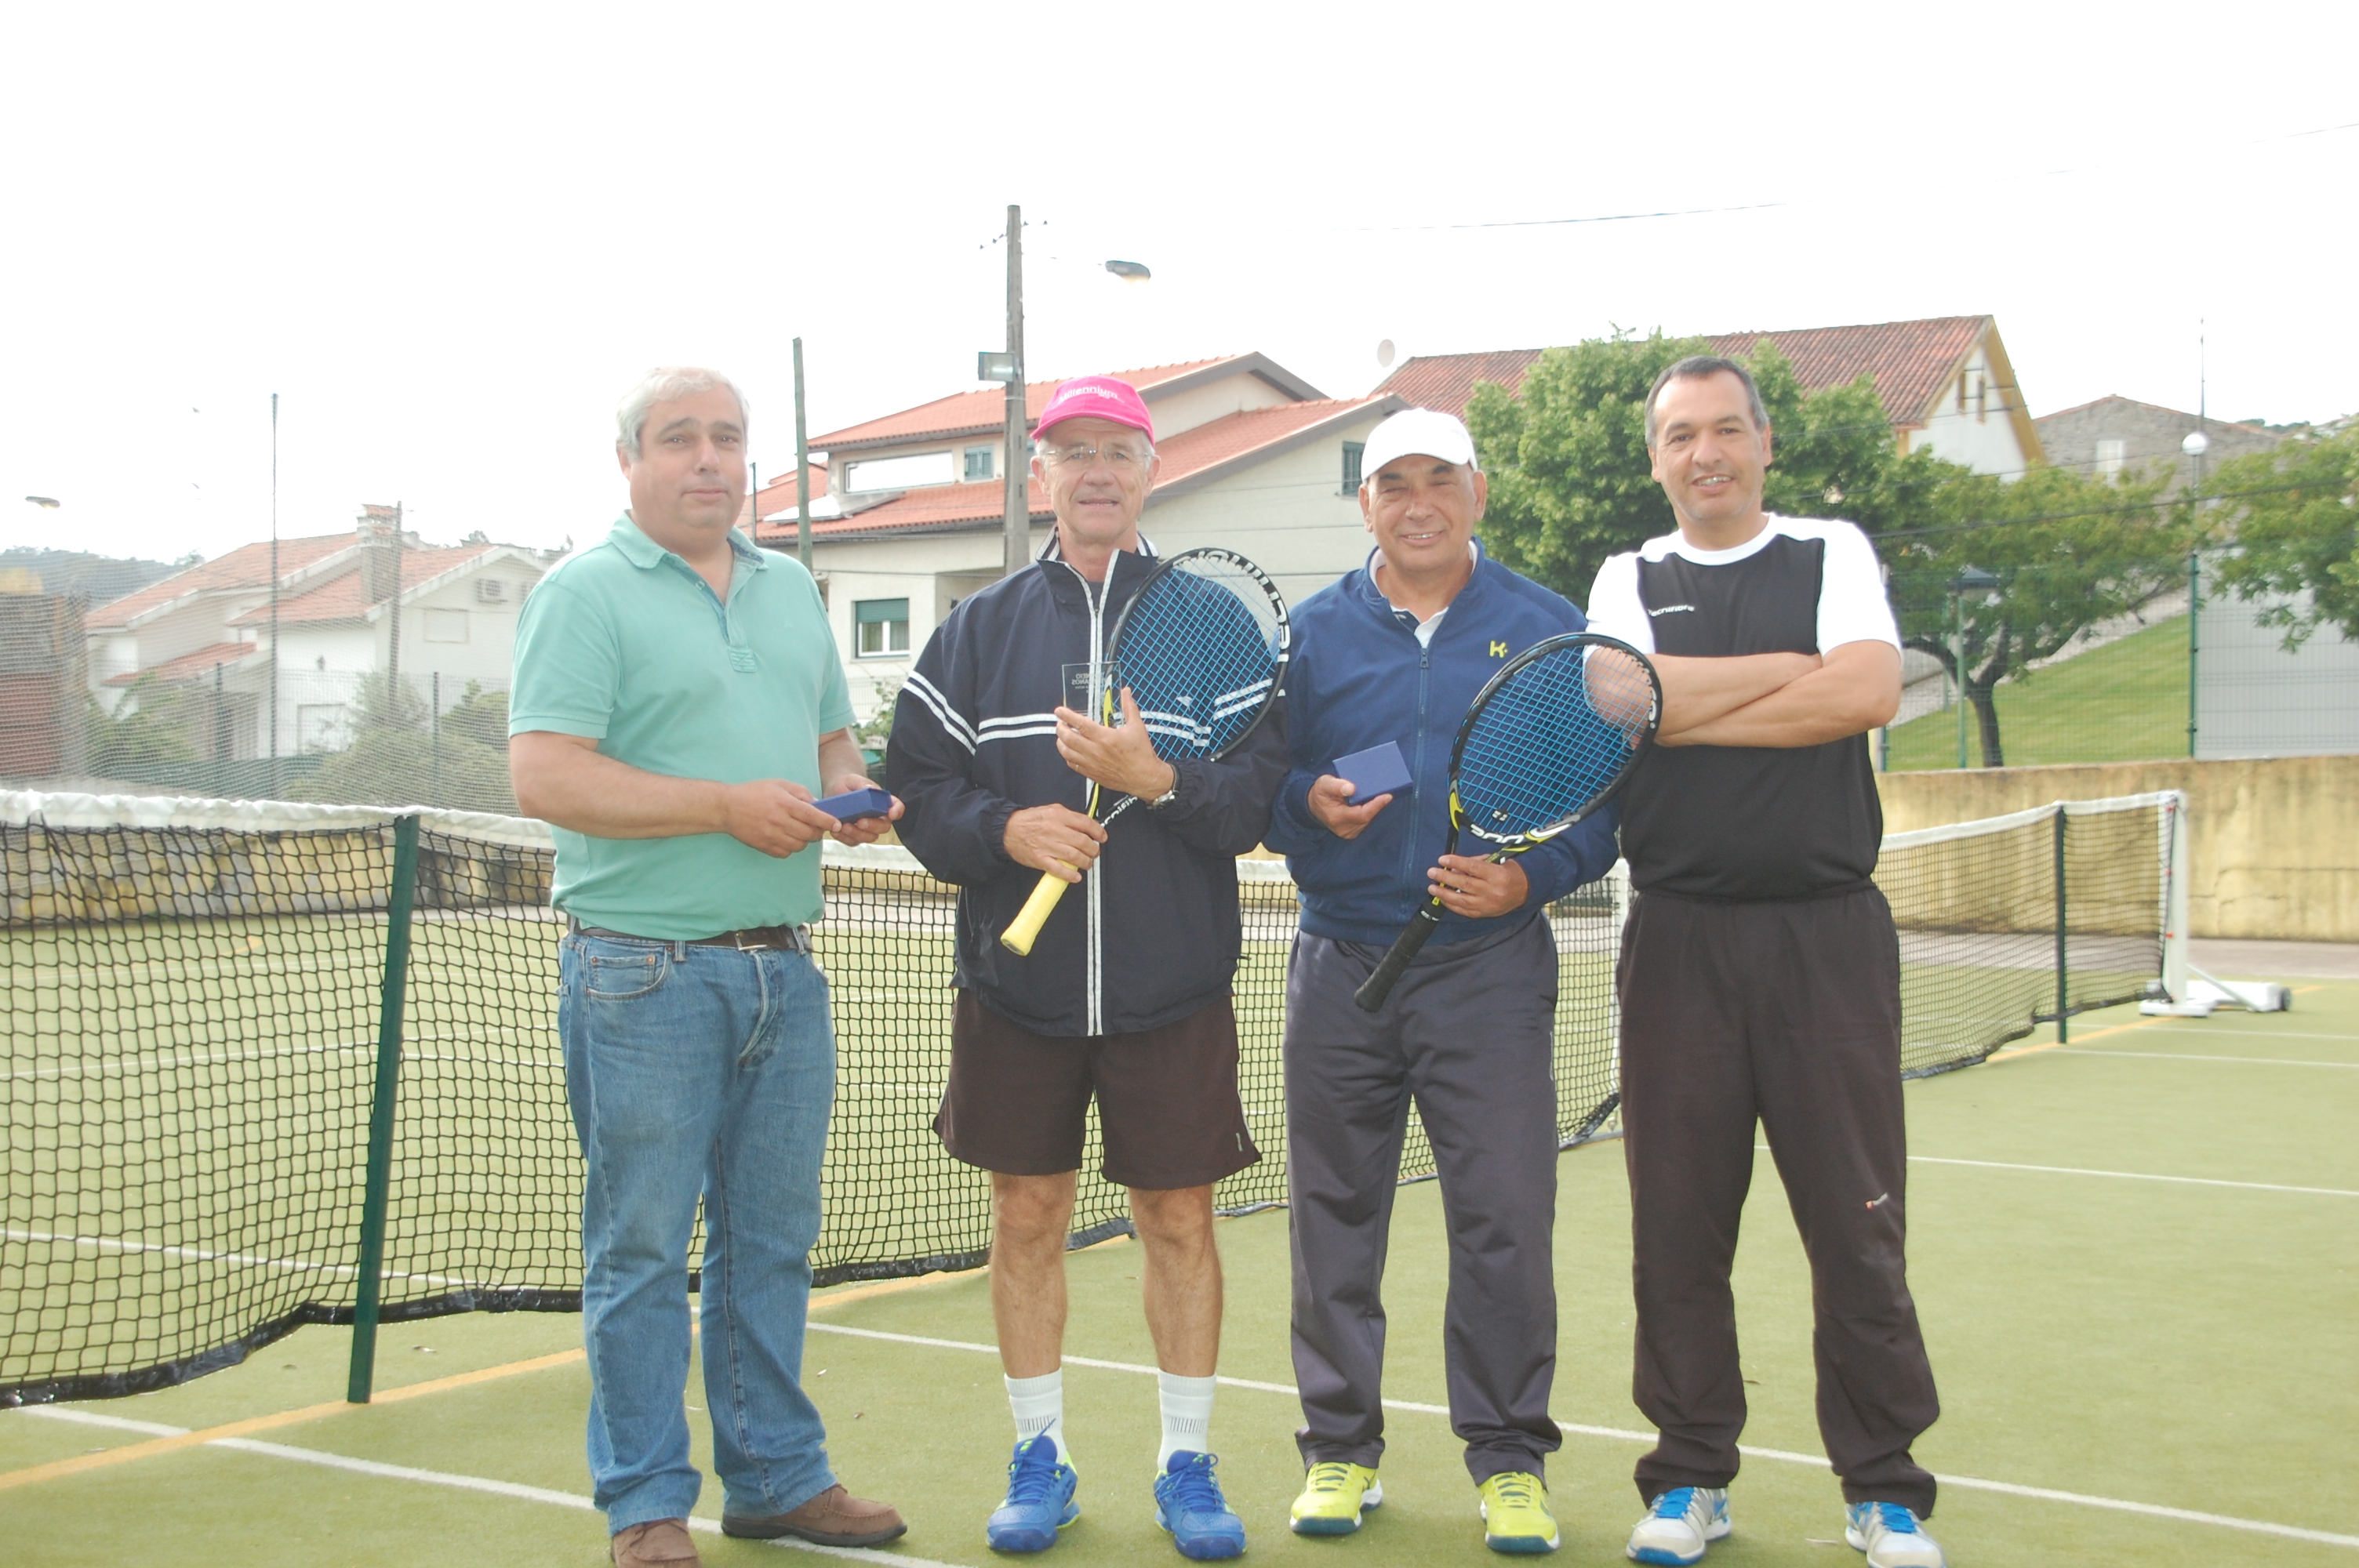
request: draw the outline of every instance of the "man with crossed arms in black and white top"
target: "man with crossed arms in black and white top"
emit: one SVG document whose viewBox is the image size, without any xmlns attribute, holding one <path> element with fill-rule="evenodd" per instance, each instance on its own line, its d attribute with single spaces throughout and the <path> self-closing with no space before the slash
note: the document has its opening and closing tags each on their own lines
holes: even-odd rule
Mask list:
<svg viewBox="0 0 2359 1568">
<path fill-rule="evenodd" d="M 1687 358 L 1647 398 L 1680 531 L 1597 573 L 1590 625 L 1656 655 L 1663 729 L 1623 806 L 1623 1155 L 1637 1290 L 1642 1563 L 1729 1533 L 1746 1384 L 1729 1264 L 1755 1120 L 1816 1304 L 1819 1434 L 1873 1568 L 1939 1568 L 1939 1415 L 1904 1261 L 1899 938 L 1868 879 L 1866 731 L 1899 707 L 1899 632 L 1852 523 L 1762 512 L 1769 422 L 1743 365 Z"/>
</svg>

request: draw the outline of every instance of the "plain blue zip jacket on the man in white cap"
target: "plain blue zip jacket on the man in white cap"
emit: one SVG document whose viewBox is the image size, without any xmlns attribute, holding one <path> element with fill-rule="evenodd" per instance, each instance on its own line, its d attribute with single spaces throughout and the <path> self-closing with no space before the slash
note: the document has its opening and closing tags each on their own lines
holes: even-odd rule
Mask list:
<svg viewBox="0 0 2359 1568">
<path fill-rule="evenodd" d="M 1373 556 L 1371 556 L 1373 559 Z M 1427 901 L 1427 868 L 1451 825 L 1451 740 L 1500 665 L 1543 637 L 1581 632 L 1571 599 L 1517 575 L 1477 547 L 1474 575 L 1418 644 L 1418 620 L 1375 589 L 1361 566 L 1295 606 L 1295 658 L 1286 672 L 1290 769 L 1269 821 L 1269 846 L 1302 889 L 1302 929 L 1335 941 L 1392 946 Z M 1312 783 L 1338 757 L 1394 740 L 1411 788 L 1356 839 L 1309 811 Z M 1493 920 L 1444 915 L 1437 943 L 1505 931 L 1614 868 L 1621 802 L 1517 856 L 1531 896 Z M 1460 844 L 1460 854 L 1465 846 Z"/>
</svg>

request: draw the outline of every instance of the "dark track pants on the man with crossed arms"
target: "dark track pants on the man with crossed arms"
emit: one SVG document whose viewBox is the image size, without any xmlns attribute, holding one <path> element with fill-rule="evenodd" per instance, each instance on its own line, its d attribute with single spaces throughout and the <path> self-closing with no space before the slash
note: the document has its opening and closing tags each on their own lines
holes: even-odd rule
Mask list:
<svg viewBox="0 0 2359 1568">
<path fill-rule="evenodd" d="M 1941 1412 L 1908 1299 L 1899 938 L 1885 896 L 1642 894 L 1623 931 L 1623 1158 L 1637 1372 L 1661 1429 L 1637 1490 L 1727 1485 L 1746 1384 L 1729 1264 L 1760 1120 L 1809 1254 L 1819 1436 L 1847 1502 L 1932 1514 L 1908 1445 Z"/>
</svg>

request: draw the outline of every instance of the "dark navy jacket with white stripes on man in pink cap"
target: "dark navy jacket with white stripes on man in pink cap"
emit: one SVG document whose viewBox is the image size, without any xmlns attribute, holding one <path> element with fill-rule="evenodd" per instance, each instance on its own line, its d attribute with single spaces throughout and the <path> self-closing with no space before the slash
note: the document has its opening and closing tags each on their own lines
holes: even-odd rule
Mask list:
<svg viewBox="0 0 2359 1568">
<path fill-rule="evenodd" d="M 901 842 L 958 884 L 958 986 L 1036 1035 L 1128 1035 L 1229 993 L 1241 943 L 1236 856 L 1262 842 L 1286 771 L 1283 698 L 1220 762 L 1180 762 L 1180 797 L 1106 823 L 1106 844 L 1066 889 L 1031 957 L 1000 931 L 1040 872 L 1007 858 L 1024 806 L 1085 811 L 1090 780 L 1057 755 L 1064 667 L 1102 660 L 1121 606 L 1154 568 L 1118 552 L 1102 604 L 1057 552 L 962 599 L 901 686 L 885 776 L 906 811 Z"/>
</svg>

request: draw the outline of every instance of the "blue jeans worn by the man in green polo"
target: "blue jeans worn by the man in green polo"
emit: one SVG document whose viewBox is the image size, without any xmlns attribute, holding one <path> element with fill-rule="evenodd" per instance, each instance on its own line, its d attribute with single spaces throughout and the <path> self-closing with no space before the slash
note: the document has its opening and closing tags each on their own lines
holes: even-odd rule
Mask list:
<svg viewBox="0 0 2359 1568">
<path fill-rule="evenodd" d="M 802 1394 L 819 1160 L 835 1106 L 828 981 L 807 953 L 566 936 L 557 1033 L 583 1186 L 590 1476 L 609 1530 L 684 1518 L 686 1254 L 705 1205 L 703 1361 L 729 1514 L 835 1485 Z"/>
</svg>

